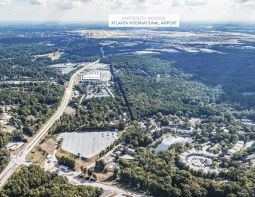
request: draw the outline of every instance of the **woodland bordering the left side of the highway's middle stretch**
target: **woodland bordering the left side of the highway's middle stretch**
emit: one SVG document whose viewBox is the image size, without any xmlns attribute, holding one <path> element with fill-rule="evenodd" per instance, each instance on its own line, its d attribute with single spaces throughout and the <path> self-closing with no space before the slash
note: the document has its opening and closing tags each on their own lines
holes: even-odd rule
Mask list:
<svg viewBox="0 0 255 197">
<path fill-rule="evenodd" d="M 0 104 L 13 106 L 10 124 L 32 136 L 54 112 L 64 87 L 53 83 L 1 85 Z"/>
</svg>

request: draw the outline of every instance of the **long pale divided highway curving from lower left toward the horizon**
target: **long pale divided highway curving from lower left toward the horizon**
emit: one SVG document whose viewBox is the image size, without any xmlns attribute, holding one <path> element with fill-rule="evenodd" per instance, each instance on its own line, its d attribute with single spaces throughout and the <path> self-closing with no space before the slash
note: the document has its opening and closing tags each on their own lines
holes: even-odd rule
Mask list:
<svg viewBox="0 0 255 197">
<path fill-rule="evenodd" d="M 64 96 L 61 100 L 61 103 L 56 110 L 56 112 L 50 117 L 50 119 L 41 127 L 41 129 L 38 131 L 38 133 L 33 137 L 33 139 L 24 147 L 24 149 L 16 156 L 12 156 L 9 164 L 7 167 L 3 170 L 3 172 L 0 174 L 0 188 L 3 187 L 7 180 L 11 177 L 11 175 L 15 172 L 15 170 L 18 168 L 21 164 L 26 164 L 26 156 L 28 153 L 40 143 L 40 141 L 47 135 L 49 129 L 52 127 L 52 125 L 61 117 L 61 115 L 64 113 L 66 106 L 68 105 L 70 99 L 72 98 L 72 90 L 75 84 L 75 80 L 77 76 L 87 69 L 90 66 L 95 65 L 98 63 L 99 60 L 92 62 L 90 64 L 87 64 L 83 66 L 81 69 L 77 70 L 72 76 L 68 83 L 68 86 L 65 89 Z"/>
</svg>

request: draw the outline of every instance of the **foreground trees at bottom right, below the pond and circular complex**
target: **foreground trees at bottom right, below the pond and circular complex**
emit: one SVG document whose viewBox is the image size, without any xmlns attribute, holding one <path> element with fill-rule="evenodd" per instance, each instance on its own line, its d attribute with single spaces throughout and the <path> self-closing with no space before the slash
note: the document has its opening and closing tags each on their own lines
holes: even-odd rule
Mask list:
<svg viewBox="0 0 255 197">
<path fill-rule="evenodd" d="M 202 172 L 194 176 L 181 166 L 176 167 L 182 150 L 181 145 L 160 153 L 141 149 L 134 161 L 120 160 L 119 181 L 157 197 L 254 196 L 254 168 L 232 169 L 225 174 L 227 181 L 204 178 Z"/>
</svg>

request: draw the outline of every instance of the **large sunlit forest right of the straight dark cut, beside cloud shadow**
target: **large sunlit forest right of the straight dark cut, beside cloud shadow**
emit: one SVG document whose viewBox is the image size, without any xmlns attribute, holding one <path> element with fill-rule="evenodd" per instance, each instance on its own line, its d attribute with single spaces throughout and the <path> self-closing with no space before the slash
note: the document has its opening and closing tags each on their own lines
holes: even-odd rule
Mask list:
<svg viewBox="0 0 255 197">
<path fill-rule="evenodd" d="M 193 81 L 166 61 L 150 56 L 113 56 L 115 80 L 127 100 L 133 119 L 158 112 L 189 116 L 219 114 L 222 90 Z"/>
</svg>

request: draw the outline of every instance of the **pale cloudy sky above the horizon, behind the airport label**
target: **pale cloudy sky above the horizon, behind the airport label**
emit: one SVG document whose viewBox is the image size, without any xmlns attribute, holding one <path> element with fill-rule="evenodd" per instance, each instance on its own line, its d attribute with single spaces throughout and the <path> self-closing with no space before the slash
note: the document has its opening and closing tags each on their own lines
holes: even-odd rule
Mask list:
<svg viewBox="0 0 255 197">
<path fill-rule="evenodd" d="M 255 0 L 0 0 L 0 23 L 107 22 L 109 14 L 173 14 L 181 22 L 255 23 Z"/>
</svg>

